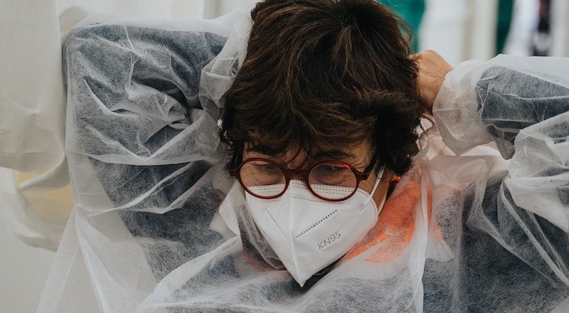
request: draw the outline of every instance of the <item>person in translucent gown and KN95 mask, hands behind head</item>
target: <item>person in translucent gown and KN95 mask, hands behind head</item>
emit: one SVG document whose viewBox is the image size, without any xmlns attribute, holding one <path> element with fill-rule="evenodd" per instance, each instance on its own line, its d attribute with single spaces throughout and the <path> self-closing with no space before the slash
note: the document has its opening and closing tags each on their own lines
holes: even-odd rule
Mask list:
<svg viewBox="0 0 569 313">
<path fill-rule="evenodd" d="M 75 27 L 38 312 L 568 312 L 569 60 L 451 68 L 407 28 L 371 0 Z"/>
</svg>

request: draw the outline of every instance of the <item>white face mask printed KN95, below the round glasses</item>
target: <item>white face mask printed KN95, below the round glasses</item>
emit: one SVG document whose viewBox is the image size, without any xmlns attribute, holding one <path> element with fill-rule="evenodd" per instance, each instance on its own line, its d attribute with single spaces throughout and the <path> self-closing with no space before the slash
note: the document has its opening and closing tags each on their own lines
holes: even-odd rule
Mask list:
<svg viewBox="0 0 569 313">
<path fill-rule="evenodd" d="M 338 202 L 314 196 L 304 181 L 294 179 L 278 198 L 262 199 L 245 193 L 257 227 L 301 287 L 312 275 L 345 255 L 376 225 L 385 196 L 376 206 L 372 195 L 382 174 L 383 170 L 371 194 L 358 188 L 353 196 Z M 256 188 L 282 190 L 282 185 L 250 190 L 255 192 Z M 323 185 L 318 192 L 334 193 L 342 188 Z"/>
</svg>

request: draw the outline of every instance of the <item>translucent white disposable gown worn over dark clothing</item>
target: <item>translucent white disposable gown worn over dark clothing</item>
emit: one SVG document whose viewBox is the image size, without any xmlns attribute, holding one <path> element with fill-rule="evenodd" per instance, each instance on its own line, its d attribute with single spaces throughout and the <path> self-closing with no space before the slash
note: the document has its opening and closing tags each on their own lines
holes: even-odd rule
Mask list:
<svg viewBox="0 0 569 313">
<path fill-rule="evenodd" d="M 375 228 L 299 287 L 217 135 L 250 23 L 69 33 L 75 208 L 38 312 L 569 312 L 568 59 L 458 65 Z"/>
</svg>

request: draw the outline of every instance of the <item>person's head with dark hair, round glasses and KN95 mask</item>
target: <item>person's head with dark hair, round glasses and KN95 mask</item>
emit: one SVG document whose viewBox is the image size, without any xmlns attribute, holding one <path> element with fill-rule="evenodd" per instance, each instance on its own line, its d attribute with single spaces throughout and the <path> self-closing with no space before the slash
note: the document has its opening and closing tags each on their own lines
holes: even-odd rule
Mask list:
<svg viewBox="0 0 569 313">
<path fill-rule="evenodd" d="M 418 65 L 399 31 L 408 26 L 371 1 L 263 1 L 251 15 L 248 56 L 225 94 L 220 134 L 232 149 L 228 167 L 247 191 L 263 235 L 314 241 L 272 245 L 302 286 L 373 227 L 378 204 L 394 186 L 390 182 L 410 169 L 419 151 L 415 129 L 425 112 L 416 88 Z M 289 176 L 285 168 L 306 171 Z M 254 189 L 267 185 L 275 190 L 254 205 L 261 192 Z M 344 188 L 331 196 L 324 191 L 330 186 Z M 296 193 L 306 199 L 274 202 Z M 373 201 L 361 199 L 366 196 Z M 335 202 L 317 203 L 331 211 L 315 208 L 314 216 L 307 216 L 309 203 L 321 200 Z M 353 201 L 339 208 L 339 202 Z M 363 214 L 357 214 L 362 211 L 357 202 L 367 203 Z M 270 216 L 253 211 L 268 203 L 274 207 Z M 336 213 L 319 228 L 334 231 L 320 233 L 310 225 L 331 212 Z M 292 215 L 294 221 L 285 221 Z M 353 225 L 339 230 L 346 220 Z M 273 233 L 272 228 L 286 229 Z M 326 239 L 334 244 L 323 249 Z M 296 250 L 296 244 L 313 250 Z M 313 253 L 321 254 L 321 262 Z"/>
</svg>

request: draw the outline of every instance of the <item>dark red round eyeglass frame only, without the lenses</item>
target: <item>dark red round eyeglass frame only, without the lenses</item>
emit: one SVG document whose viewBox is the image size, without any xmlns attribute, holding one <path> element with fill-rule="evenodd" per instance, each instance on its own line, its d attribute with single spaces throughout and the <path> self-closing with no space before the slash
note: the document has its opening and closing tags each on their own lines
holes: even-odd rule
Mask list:
<svg viewBox="0 0 569 313">
<path fill-rule="evenodd" d="M 260 196 L 260 195 L 253 193 L 252 191 L 250 191 L 245 186 L 245 184 L 243 184 L 243 181 L 241 180 L 240 171 L 241 171 L 241 168 L 243 167 L 243 165 L 245 165 L 251 161 L 265 161 L 267 163 L 270 163 L 270 164 L 277 166 L 282 171 L 282 174 L 285 175 L 285 189 L 283 189 L 276 196 Z M 326 164 L 326 163 L 334 163 L 334 164 L 344 165 L 344 166 L 348 167 L 349 169 L 351 169 L 353 174 L 356 176 L 356 186 L 353 188 L 353 191 L 348 196 L 345 196 L 344 198 L 331 199 L 331 198 L 319 196 L 316 192 L 314 192 L 314 190 L 312 190 L 312 187 L 310 186 L 310 183 L 308 181 L 308 177 L 310 176 L 310 172 L 314 168 L 316 168 L 317 166 L 319 166 L 321 164 Z M 373 164 L 373 162 L 372 162 L 372 164 Z M 370 164 L 368 166 L 368 168 L 366 168 L 365 171 L 358 171 L 356 168 L 354 168 L 353 166 L 351 166 L 351 164 L 349 164 L 347 162 L 339 161 L 339 160 L 326 160 L 326 161 L 318 161 L 317 163 L 312 164 L 312 166 L 310 166 L 309 169 L 286 169 L 281 164 L 278 164 L 277 162 L 272 161 L 270 159 L 250 158 L 250 159 L 246 159 L 245 161 L 241 162 L 241 164 L 239 164 L 239 166 L 237 166 L 233 169 L 229 169 L 229 174 L 230 174 L 230 176 L 235 177 L 239 181 L 239 184 L 241 184 L 241 186 L 243 187 L 243 189 L 245 189 L 245 191 L 247 191 L 247 193 L 249 193 L 251 196 L 255 196 L 257 198 L 262 198 L 262 199 L 274 199 L 274 198 L 278 198 L 278 197 L 282 196 L 285 193 L 285 191 L 287 191 L 287 189 L 289 188 L 289 181 L 291 180 L 291 174 L 300 174 L 302 177 L 302 181 L 304 181 L 304 183 L 307 184 L 309 191 L 312 194 L 314 194 L 314 196 L 317 196 L 318 198 L 321 198 L 324 201 L 339 202 L 339 201 L 344 201 L 347 198 L 350 198 L 351 196 L 353 196 L 354 193 L 356 193 L 356 191 L 358 190 L 358 186 L 360 186 L 361 181 L 365 181 L 366 179 L 368 179 L 369 174 L 371 173 L 371 165 L 372 164 Z"/>
</svg>

